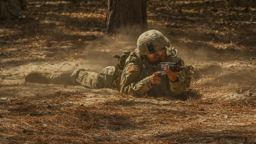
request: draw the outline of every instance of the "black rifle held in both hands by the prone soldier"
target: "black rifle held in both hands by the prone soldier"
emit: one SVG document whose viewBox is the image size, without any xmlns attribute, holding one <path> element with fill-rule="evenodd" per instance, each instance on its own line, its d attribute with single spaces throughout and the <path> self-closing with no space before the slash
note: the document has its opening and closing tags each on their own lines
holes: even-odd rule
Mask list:
<svg viewBox="0 0 256 144">
<path fill-rule="evenodd" d="M 159 63 L 158 62 L 158 63 L 154 63 L 154 64 L 150 64 L 150 63 L 143 64 L 143 67 L 146 69 L 160 68 L 161 69 L 160 77 L 164 77 L 166 75 L 166 72 L 164 71 L 165 66 L 167 66 L 167 67 L 169 66 L 173 72 L 180 72 L 183 69 L 187 69 L 187 70 L 191 70 L 191 71 L 194 70 L 193 66 L 191 66 L 191 65 L 182 66 L 181 58 L 179 58 L 177 63 L 171 63 L 171 62 L 167 62 L 167 63 L 160 62 Z"/>
</svg>

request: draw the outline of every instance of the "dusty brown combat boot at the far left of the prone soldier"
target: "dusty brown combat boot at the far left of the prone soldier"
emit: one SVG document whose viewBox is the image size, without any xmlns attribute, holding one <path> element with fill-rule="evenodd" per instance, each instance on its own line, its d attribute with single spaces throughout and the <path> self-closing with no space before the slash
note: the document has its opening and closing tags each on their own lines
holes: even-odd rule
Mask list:
<svg viewBox="0 0 256 144">
<path fill-rule="evenodd" d="M 25 82 L 44 84 L 68 84 L 71 85 L 70 76 L 72 73 L 52 74 L 48 72 L 32 71 L 25 76 Z"/>
</svg>

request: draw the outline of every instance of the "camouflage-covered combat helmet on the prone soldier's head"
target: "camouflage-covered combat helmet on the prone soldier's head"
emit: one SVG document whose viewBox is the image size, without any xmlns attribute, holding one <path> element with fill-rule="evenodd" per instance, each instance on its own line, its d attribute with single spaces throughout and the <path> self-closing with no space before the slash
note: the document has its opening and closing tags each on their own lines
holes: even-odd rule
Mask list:
<svg viewBox="0 0 256 144">
<path fill-rule="evenodd" d="M 137 48 L 140 55 L 153 54 L 165 46 L 170 47 L 170 41 L 157 30 L 149 30 L 140 35 Z"/>
</svg>

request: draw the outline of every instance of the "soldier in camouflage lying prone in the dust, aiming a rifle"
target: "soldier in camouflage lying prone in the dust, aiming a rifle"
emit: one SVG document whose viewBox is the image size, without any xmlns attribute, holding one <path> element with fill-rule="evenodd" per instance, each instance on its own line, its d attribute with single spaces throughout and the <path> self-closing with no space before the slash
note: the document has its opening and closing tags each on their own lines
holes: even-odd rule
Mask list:
<svg viewBox="0 0 256 144">
<path fill-rule="evenodd" d="M 153 47 L 147 44 L 151 43 Z M 169 40 L 157 30 L 149 30 L 142 33 L 137 41 L 137 48 L 130 53 L 123 51 L 117 66 L 109 66 L 101 72 L 88 72 L 84 69 L 74 70 L 72 73 L 52 74 L 33 71 L 25 76 L 26 82 L 75 84 L 90 89 L 117 88 L 128 95 L 140 96 L 186 96 L 186 89 L 190 86 L 193 72 L 183 69 L 181 72 L 173 72 L 169 67 L 164 70 L 167 76 L 159 77 L 158 69 L 145 69 L 144 63 L 177 62 L 177 55 L 172 54 Z M 150 54 L 151 53 L 151 54 Z M 125 61 L 126 60 L 126 61 Z M 184 62 L 182 61 L 184 65 Z M 195 78 L 199 78 L 201 72 L 221 72 L 218 65 L 197 65 Z"/>
</svg>

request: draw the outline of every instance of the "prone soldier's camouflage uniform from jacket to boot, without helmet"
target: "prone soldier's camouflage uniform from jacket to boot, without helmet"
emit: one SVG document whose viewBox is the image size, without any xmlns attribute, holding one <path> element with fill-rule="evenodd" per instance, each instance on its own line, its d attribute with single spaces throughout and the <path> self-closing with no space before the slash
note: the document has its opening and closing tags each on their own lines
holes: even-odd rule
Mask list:
<svg viewBox="0 0 256 144">
<path fill-rule="evenodd" d="M 177 62 L 177 57 L 171 57 L 171 50 L 165 52 L 163 62 Z M 159 69 L 145 69 L 143 63 L 149 63 L 145 56 L 139 56 L 135 49 L 127 59 L 124 70 L 119 66 L 109 66 L 98 72 L 88 72 L 84 69 L 76 69 L 72 73 L 52 74 L 34 71 L 25 76 L 26 82 L 74 84 L 82 85 L 88 89 L 117 88 L 120 92 L 128 95 L 149 96 L 186 96 L 186 88 L 190 86 L 191 79 L 199 79 L 201 74 L 215 74 L 221 72 L 222 68 L 213 63 L 194 65 L 194 71 L 182 70 L 178 74 L 178 81 L 171 82 L 168 76 L 163 77 L 160 85 L 150 84 L 149 76 Z M 182 63 L 184 65 L 184 62 Z M 129 72 L 129 67 L 138 65 L 137 71 Z M 32 72 L 33 73 L 33 72 Z M 39 75 L 39 76 L 38 76 Z M 113 76 L 114 75 L 114 76 Z M 192 76 L 192 77 L 191 77 Z"/>
</svg>

